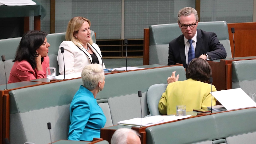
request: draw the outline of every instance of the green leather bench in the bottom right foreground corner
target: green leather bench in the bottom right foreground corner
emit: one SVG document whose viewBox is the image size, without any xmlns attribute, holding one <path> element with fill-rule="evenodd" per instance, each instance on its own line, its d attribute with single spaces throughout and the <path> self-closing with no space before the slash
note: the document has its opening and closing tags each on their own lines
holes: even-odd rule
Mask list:
<svg viewBox="0 0 256 144">
<path fill-rule="evenodd" d="M 215 113 L 146 128 L 147 144 L 255 143 L 256 108 Z"/>
</svg>

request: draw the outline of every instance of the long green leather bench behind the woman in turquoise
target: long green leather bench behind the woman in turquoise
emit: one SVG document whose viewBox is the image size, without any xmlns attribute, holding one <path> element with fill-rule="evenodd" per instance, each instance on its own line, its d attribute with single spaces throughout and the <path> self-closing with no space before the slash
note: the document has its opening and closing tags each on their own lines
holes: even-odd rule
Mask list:
<svg viewBox="0 0 256 144">
<path fill-rule="evenodd" d="M 105 127 L 141 117 L 138 91 L 142 91 L 143 116 L 148 115 L 148 88 L 167 83 L 173 71 L 180 75 L 179 80 L 186 79 L 183 66 L 105 75 L 104 89 L 97 94 L 97 102 L 107 118 Z M 48 122 L 53 141 L 67 139 L 69 106 L 82 84 L 80 78 L 10 91 L 10 143 L 50 143 Z"/>
</svg>

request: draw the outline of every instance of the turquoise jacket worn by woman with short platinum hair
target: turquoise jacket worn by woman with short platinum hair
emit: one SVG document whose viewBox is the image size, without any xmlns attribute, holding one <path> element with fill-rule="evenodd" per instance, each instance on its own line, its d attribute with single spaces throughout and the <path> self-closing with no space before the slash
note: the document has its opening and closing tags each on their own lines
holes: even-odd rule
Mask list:
<svg viewBox="0 0 256 144">
<path fill-rule="evenodd" d="M 91 141 L 100 138 L 106 117 L 91 91 L 80 86 L 70 104 L 68 140 Z"/>
</svg>

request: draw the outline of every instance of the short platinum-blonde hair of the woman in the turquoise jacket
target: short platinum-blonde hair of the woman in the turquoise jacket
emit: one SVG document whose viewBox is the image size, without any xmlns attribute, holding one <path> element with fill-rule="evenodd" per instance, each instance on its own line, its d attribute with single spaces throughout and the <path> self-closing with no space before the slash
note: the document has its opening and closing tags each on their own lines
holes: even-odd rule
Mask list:
<svg viewBox="0 0 256 144">
<path fill-rule="evenodd" d="M 103 81 L 105 75 L 100 64 L 89 64 L 85 66 L 81 74 L 83 86 L 89 90 L 97 87 L 99 81 Z"/>
</svg>

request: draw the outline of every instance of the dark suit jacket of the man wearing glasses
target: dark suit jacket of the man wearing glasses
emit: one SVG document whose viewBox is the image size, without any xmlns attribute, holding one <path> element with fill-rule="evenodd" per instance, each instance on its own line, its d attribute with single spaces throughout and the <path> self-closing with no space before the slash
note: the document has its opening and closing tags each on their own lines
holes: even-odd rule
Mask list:
<svg viewBox="0 0 256 144">
<path fill-rule="evenodd" d="M 219 42 L 215 33 L 197 29 L 195 58 L 204 53 L 211 60 L 226 58 L 227 56 L 224 46 Z M 168 65 L 175 65 L 176 63 L 183 64 L 184 68 L 187 68 L 183 34 L 169 43 Z"/>
</svg>

